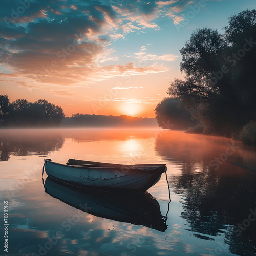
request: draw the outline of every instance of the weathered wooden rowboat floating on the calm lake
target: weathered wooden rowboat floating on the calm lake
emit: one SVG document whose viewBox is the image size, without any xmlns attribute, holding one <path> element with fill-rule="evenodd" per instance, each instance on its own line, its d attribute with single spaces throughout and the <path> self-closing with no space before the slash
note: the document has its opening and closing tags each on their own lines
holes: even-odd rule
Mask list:
<svg viewBox="0 0 256 256">
<path fill-rule="evenodd" d="M 67 164 L 45 159 L 48 176 L 79 187 L 144 193 L 166 172 L 165 164 L 122 165 L 69 159 Z"/>
</svg>

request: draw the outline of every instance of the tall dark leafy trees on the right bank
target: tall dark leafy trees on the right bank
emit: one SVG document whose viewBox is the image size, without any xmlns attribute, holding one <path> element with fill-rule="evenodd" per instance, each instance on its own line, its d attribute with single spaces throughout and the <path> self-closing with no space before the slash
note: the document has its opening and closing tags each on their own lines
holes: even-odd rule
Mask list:
<svg viewBox="0 0 256 256">
<path fill-rule="evenodd" d="M 185 77 L 170 82 L 156 118 L 160 126 L 166 118 L 175 121 L 170 105 L 176 105 L 184 108 L 183 119 L 197 123 L 194 131 L 238 138 L 250 126 L 256 141 L 256 10 L 230 16 L 223 29 L 191 34 L 180 50 Z"/>
</svg>

